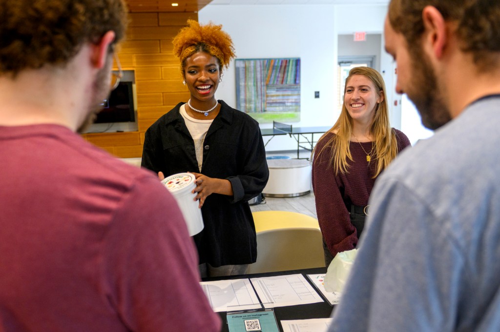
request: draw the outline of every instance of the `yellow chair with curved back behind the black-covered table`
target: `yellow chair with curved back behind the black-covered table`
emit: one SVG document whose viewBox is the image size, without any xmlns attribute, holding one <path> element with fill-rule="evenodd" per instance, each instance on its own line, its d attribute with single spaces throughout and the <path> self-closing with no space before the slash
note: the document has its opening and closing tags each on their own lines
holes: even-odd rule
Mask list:
<svg viewBox="0 0 500 332">
<path fill-rule="evenodd" d="M 248 273 L 324 267 L 321 231 L 313 217 L 288 211 L 253 213 L 257 261 Z"/>
</svg>

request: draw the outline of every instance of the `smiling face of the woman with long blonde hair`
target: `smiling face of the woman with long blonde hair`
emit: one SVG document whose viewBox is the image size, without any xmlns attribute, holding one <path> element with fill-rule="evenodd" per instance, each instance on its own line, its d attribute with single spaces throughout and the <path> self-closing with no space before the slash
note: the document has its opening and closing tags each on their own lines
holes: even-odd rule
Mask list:
<svg viewBox="0 0 500 332">
<path fill-rule="evenodd" d="M 352 75 L 345 82 L 344 105 L 353 121 L 369 124 L 373 121 L 377 104 L 383 94 L 363 75 Z"/>
</svg>

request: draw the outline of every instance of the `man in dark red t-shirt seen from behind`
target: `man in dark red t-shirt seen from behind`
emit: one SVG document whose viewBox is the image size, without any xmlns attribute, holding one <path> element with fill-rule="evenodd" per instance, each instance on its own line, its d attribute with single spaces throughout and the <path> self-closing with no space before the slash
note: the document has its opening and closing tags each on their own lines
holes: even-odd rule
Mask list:
<svg viewBox="0 0 500 332">
<path fill-rule="evenodd" d="M 220 329 L 175 200 L 75 132 L 112 88 L 122 0 L 0 0 L 0 331 Z"/>
</svg>

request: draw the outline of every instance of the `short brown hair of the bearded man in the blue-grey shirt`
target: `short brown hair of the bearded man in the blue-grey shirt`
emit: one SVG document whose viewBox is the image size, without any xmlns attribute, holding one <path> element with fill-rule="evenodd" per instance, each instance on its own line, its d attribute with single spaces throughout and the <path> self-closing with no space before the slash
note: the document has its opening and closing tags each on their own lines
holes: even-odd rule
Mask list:
<svg viewBox="0 0 500 332">
<path fill-rule="evenodd" d="M 431 5 L 447 21 L 456 22 L 456 34 L 464 52 L 476 65 L 488 70 L 500 52 L 500 1 L 498 0 L 391 0 L 388 18 L 396 32 L 403 34 L 410 50 L 420 47 L 424 31 L 422 10 Z"/>
</svg>

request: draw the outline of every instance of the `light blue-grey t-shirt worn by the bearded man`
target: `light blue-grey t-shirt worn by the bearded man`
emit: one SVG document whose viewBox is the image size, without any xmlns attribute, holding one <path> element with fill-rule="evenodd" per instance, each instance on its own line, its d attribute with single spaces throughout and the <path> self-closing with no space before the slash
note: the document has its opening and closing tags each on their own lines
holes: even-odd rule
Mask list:
<svg viewBox="0 0 500 332">
<path fill-rule="evenodd" d="M 329 332 L 500 331 L 498 124 L 477 100 L 379 177 Z"/>
</svg>

